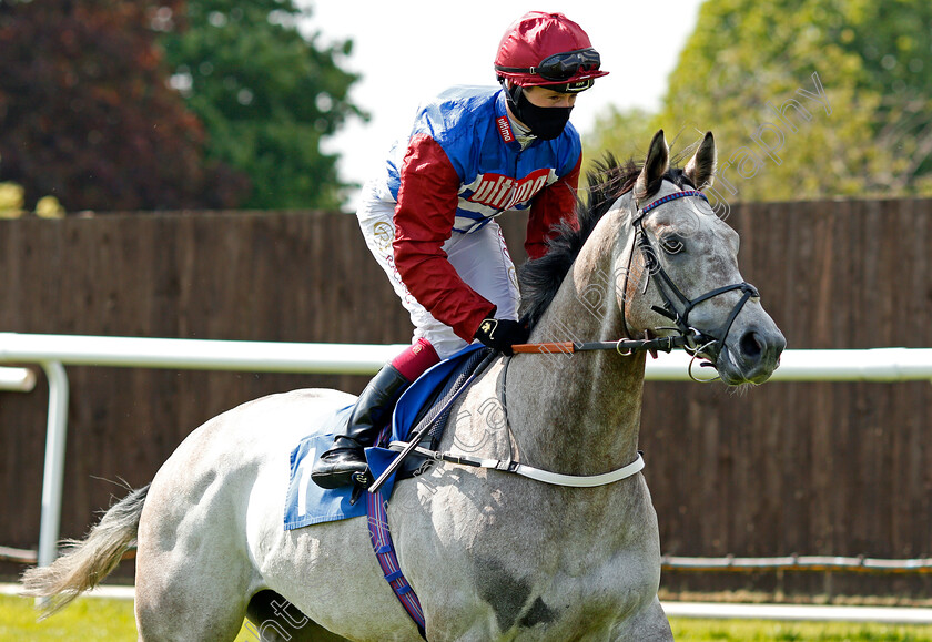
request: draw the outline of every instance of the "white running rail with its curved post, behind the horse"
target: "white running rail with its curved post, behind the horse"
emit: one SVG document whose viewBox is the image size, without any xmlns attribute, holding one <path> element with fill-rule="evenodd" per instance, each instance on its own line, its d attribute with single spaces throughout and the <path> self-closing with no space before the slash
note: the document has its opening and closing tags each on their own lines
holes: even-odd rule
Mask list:
<svg viewBox="0 0 932 642">
<path fill-rule="evenodd" d="M 49 380 L 39 565 L 50 564 L 58 554 L 68 434 L 64 366 L 369 375 L 405 347 L 0 333 L 0 364 L 39 364 Z M 648 360 L 645 378 L 688 381 L 689 360 L 685 353 L 661 354 Z M 703 376 L 700 368 L 693 370 Z M 771 377 L 773 381 L 922 379 L 932 381 L 932 348 L 786 350 Z"/>
</svg>

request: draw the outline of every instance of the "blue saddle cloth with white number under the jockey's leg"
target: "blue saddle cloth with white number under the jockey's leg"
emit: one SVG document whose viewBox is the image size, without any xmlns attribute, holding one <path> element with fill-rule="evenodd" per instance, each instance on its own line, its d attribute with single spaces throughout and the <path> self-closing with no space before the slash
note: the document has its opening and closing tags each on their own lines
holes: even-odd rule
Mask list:
<svg viewBox="0 0 932 642">
<path fill-rule="evenodd" d="M 424 406 L 469 366 L 476 350 L 485 349 L 482 345 L 469 345 L 424 373 L 412 384 L 395 407 L 391 439 L 406 440 Z M 366 514 L 366 502 L 350 505 L 353 487 L 324 489 L 311 480 L 314 460 L 333 445 L 334 435 L 343 432 L 352 409 L 353 406 L 347 406 L 331 415 L 314 434 L 304 437 L 292 450 L 291 475 L 285 497 L 285 530 Z M 397 452 L 387 448 L 366 448 L 366 460 L 376 479 L 397 456 Z M 387 501 L 392 497 L 393 488 L 394 476 L 378 490 L 383 500 Z"/>
</svg>

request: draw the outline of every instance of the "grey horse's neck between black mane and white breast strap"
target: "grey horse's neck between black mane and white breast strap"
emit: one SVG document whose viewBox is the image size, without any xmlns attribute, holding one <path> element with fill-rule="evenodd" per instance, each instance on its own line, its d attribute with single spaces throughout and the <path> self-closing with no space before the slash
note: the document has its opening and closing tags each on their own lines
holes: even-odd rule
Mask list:
<svg viewBox="0 0 932 642">
<path fill-rule="evenodd" d="M 619 218 L 608 214 L 592 232 L 531 342 L 621 338 L 614 263 L 626 252 L 627 235 L 619 233 Z M 569 475 L 630 463 L 644 365 L 642 354 L 622 357 L 615 350 L 516 356 L 506 386 L 518 459 Z"/>
</svg>

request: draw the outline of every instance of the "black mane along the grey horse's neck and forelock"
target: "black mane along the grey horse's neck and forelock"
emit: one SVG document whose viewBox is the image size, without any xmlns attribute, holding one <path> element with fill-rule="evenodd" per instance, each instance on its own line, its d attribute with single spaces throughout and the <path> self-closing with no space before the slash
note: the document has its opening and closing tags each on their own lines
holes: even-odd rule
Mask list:
<svg viewBox="0 0 932 642">
<path fill-rule="evenodd" d="M 518 271 L 521 318 L 526 319 L 531 328 L 554 300 L 564 277 L 596 224 L 619 196 L 631 191 L 641 167 L 642 163 L 636 163 L 631 159 L 622 163 L 610 153 L 597 161 L 595 169 L 586 176 L 589 183 L 588 203 L 577 198 L 578 227 L 561 223 L 555 228 L 556 236 L 548 243 L 547 254 L 521 265 Z M 660 180 L 647 186 L 648 194 L 656 193 L 663 180 L 672 182 L 681 190 L 695 188 L 681 169 L 670 169 Z"/>
</svg>

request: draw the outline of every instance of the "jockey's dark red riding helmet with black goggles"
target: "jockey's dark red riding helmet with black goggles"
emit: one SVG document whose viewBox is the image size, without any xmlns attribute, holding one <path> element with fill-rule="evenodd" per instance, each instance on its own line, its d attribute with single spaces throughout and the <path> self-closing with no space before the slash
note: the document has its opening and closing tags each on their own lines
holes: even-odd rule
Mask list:
<svg viewBox="0 0 932 642">
<path fill-rule="evenodd" d="M 578 92 L 608 74 L 599 71 L 600 63 L 598 51 L 576 22 L 563 13 L 531 11 L 505 31 L 495 71 L 499 80 L 507 78 L 521 86 Z"/>
</svg>

